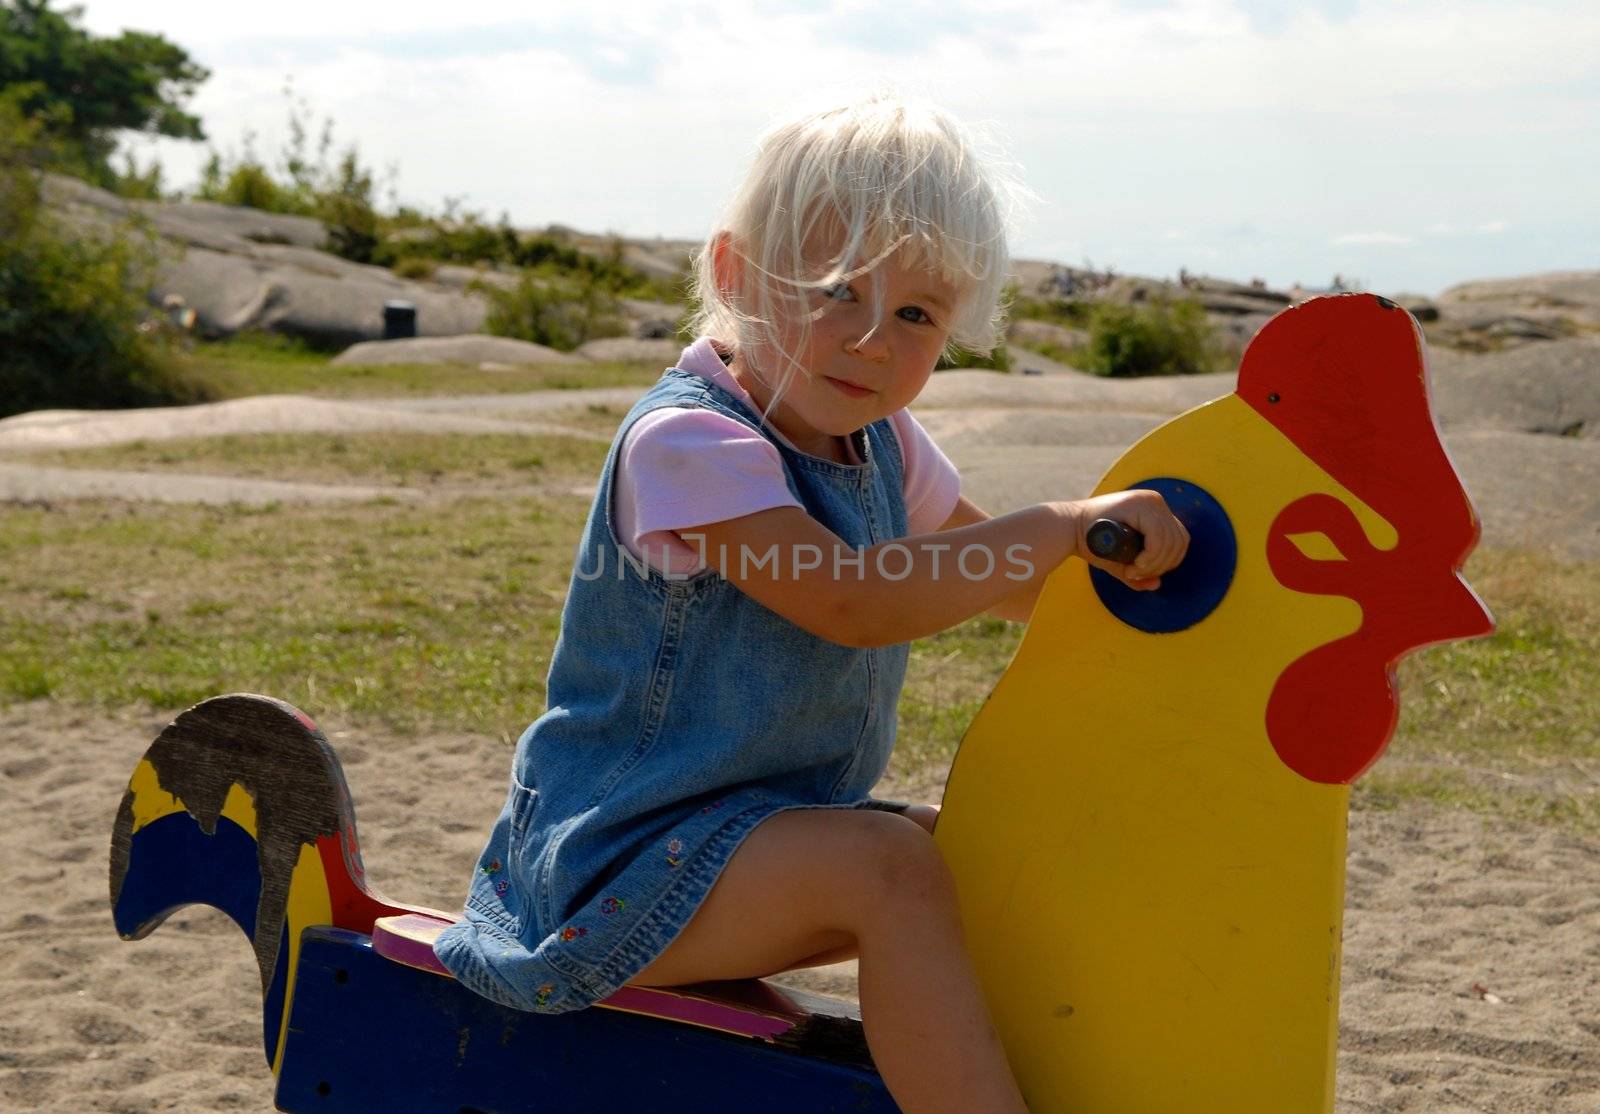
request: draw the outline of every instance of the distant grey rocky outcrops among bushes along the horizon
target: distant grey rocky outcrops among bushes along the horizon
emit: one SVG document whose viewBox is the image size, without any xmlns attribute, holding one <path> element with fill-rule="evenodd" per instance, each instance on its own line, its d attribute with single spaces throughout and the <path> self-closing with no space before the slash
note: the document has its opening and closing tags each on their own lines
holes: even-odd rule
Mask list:
<svg viewBox="0 0 1600 1114">
<path fill-rule="evenodd" d="M 210 336 L 262 328 L 320 344 L 371 341 L 382 336 L 387 301 L 416 307 L 419 336 L 482 333 L 486 306 L 467 285 L 474 278 L 512 282 L 509 275 L 453 266 L 438 267 L 427 280 L 402 278 L 384 267 L 350 262 L 320 250 L 326 230 L 309 218 L 211 202 L 126 202 L 59 176 L 48 176 L 45 186 L 50 206 L 80 226 L 104 227 L 130 216 L 147 219 L 163 256 L 152 301 L 181 299 L 195 311 L 198 331 Z M 579 250 L 594 253 L 613 242 L 573 229 L 547 230 L 562 232 Z M 682 275 L 698 246 L 662 238 L 622 245 L 624 262 L 659 278 Z M 1038 259 L 1014 261 L 1013 274 L 1027 298 L 1117 303 L 1194 298 L 1205 307 L 1219 343 L 1234 351 L 1242 351 L 1272 314 L 1320 293 L 1198 275 L 1184 275 L 1181 282 L 1115 275 Z M 1405 293 L 1389 296 L 1424 323 L 1434 344 L 1446 347 L 1499 351 L 1600 333 L 1600 270 L 1469 282 L 1451 287 L 1437 301 Z M 670 333 L 678 309 L 624 303 L 638 338 Z M 1082 338 L 1061 327 L 1019 320 L 1013 322 L 1011 339 L 1022 347 L 1069 349 Z"/>
</svg>

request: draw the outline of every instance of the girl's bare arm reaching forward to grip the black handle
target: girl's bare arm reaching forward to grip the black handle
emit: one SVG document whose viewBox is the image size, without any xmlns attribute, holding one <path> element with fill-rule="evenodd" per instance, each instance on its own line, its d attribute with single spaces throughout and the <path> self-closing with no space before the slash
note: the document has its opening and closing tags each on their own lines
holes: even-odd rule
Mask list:
<svg viewBox="0 0 1600 1114">
<path fill-rule="evenodd" d="M 1160 495 L 1142 490 L 1042 503 L 859 554 L 798 507 L 758 511 L 678 536 L 795 626 L 842 645 L 882 647 L 944 631 L 1011 597 L 1032 608 L 1045 578 L 1067 557 L 1086 554 L 1083 531 L 1098 517 L 1120 519 L 1146 538 L 1133 565 L 1086 557 L 1131 587 L 1157 587 L 1160 575 L 1182 560 L 1187 533 Z M 1008 611 L 1018 607 L 1006 603 Z"/>
</svg>

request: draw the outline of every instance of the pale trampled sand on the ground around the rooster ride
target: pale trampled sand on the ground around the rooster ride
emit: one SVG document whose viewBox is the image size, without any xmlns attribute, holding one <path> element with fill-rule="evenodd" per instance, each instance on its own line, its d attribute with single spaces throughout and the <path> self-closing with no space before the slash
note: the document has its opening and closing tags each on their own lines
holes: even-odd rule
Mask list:
<svg viewBox="0 0 1600 1114">
<path fill-rule="evenodd" d="M 138 943 L 110 925 L 112 816 L 160 725 L 43 701 L 0 712 L 3 1109 L 272 1109 L 243 935 L 210 909 Z M 373 884 L 459 904 L 499 808 L 507 741 L 323 727 Z M 1597 884 L 1597 840 L 1424 807 L 1354 813 L 1341 1114 L 1600 1108 Z M 853 996 L 854 968 L 795 981 Z"/>
</svg>

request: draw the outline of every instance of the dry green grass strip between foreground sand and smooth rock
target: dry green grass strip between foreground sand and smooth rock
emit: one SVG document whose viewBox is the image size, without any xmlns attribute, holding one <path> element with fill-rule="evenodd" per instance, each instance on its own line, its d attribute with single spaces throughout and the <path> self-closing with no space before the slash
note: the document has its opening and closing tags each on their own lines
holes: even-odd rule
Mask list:
<svg viewBox="0 0 1600 1114">
<path fill-rule="evenodd" d="M 333 461 L 338 450 L 312 440 L 275 459 Z M 558 448 L 568 456 L 544 467 L 576 475 L 592 463 L 579 459 L 587 445 Z M 515 467 L 509 450 L 494 459 Z M 171 711 L 245 690 L 320 717 L 515 738 L 542 711 L 586 509 L 509 493 L 0 507 L 0 701 Z M 1357 783 L 1357 807 L 1426 802 L 1600 831 L 1597 573 L 1595 562 L 1475 554 L 1467 579 L 1499 629 L 1402 663 L 1400 730 Z M 926 781 L 949 763 L 1019 639 L 1019 626 L 978 618 L 912 645 L 898 778 Z"/>
</svg>

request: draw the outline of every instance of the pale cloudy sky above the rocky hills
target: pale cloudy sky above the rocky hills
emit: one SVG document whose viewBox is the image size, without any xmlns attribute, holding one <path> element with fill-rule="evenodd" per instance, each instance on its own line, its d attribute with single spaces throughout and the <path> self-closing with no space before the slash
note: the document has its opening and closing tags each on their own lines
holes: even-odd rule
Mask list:
<svg viewBox="0 0 1600 1114">
<path fill-rule="evenodd" d="M 757 134 L 894 83 L 1037 195 L 1016 254 L 1434 295 L 1600 266 L 1594 0 L 82 0 L 211 78 L 222 152 L 286 134 L 286 82 L 400 200 L 699 238 Z M 198 144 L 141 142 L 170 186 Z"/>
</svg>

